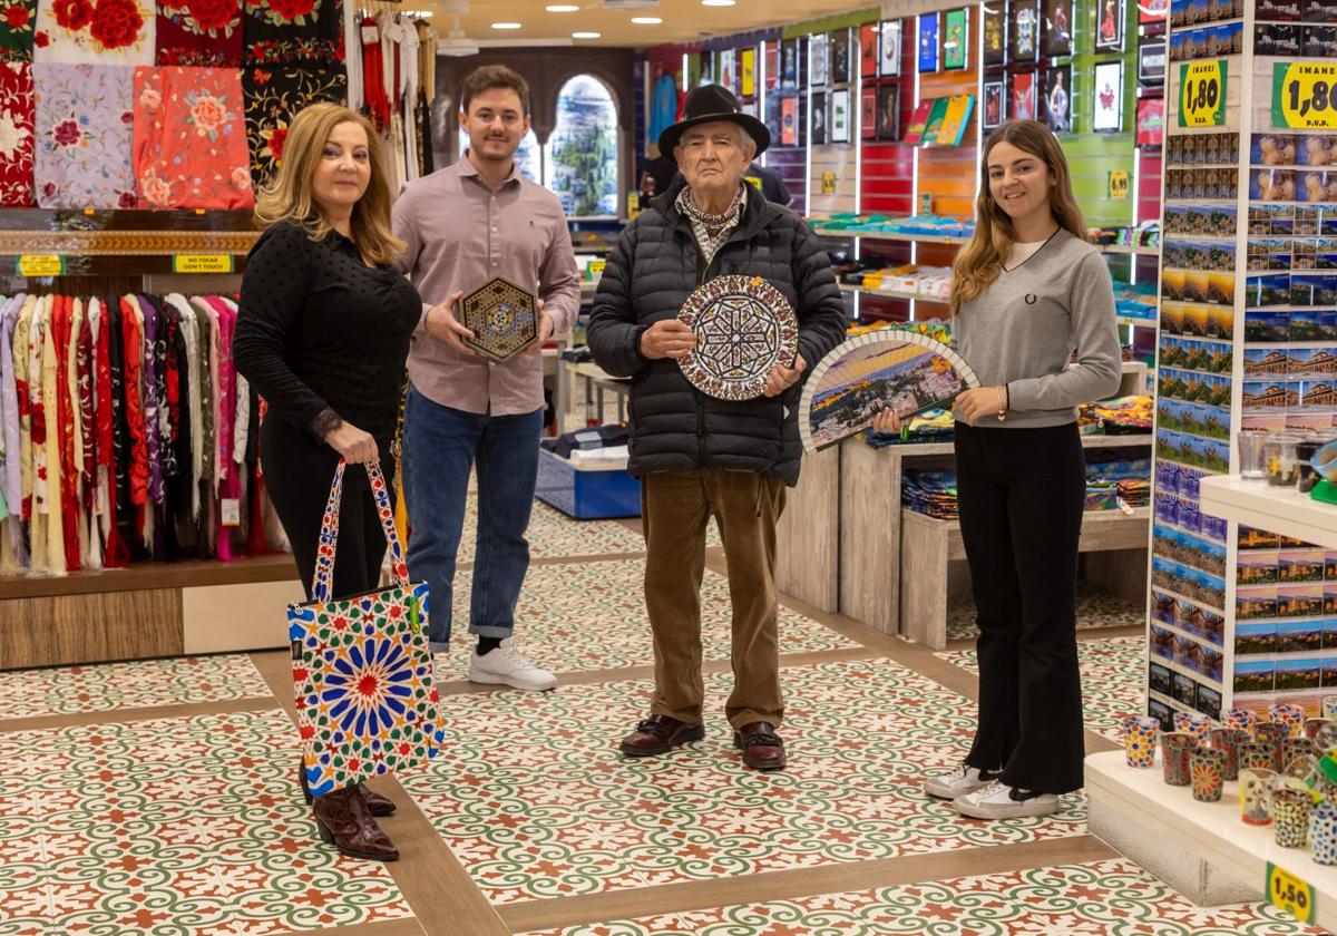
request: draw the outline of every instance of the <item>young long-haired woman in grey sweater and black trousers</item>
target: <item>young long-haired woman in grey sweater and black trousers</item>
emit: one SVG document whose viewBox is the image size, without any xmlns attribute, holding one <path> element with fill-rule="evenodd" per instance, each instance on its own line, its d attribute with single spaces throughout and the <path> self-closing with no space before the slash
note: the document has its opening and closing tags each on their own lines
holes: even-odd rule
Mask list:
<svg viewBox="0 0 1337 936">
<path fill-rule="evenodd" d="M 979 726 L 965 762 L 924 789 L 964 816 L 1012 818 L 1052 813 L 1082 786 L 1076 406 L 1118 392 L 1122 354 L 1110 271 L 1087 242 L 1054 134 L 1004 123 L 984 143 L 980 174 L 951 298 L 957 349 L 981 382 L 957 397 L 955 432 Z M 882 413 L 874 427 L 900 420 Z"/>
</svg>

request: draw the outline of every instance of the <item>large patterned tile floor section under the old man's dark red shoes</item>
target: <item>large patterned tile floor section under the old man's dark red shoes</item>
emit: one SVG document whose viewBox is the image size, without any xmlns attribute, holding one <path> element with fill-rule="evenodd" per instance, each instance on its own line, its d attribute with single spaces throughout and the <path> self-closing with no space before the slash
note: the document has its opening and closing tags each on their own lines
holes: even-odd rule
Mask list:
<svg viewBox="0 0 1337 936">
<path fill-rule="evenodd" d="M 647 681 L 447 697 L 441 755 L 401 782 L 493 904 L 1086 834 L 1082 794 L 1004 822 L 928 798 L 925 774 L 965 754 L 973 703 L 898 663 L 782 679 L 781 773 L 741 765 L 719 674 L 706 741 L 644 761 L 616 742 L 646 714 Z"/>
</svg>

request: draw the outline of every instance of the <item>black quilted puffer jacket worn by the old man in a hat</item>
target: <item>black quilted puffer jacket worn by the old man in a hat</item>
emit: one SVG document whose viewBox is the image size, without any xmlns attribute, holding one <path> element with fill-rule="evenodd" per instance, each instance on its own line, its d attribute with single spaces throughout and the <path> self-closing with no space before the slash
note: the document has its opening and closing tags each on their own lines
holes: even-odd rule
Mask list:
<svg viewBox="0 0 1337 936">
<path fill-rule="evenodd" d="M 691 223 L 674 207 L 681 181 L 627 226 L 608 257 L 587 336 L 599 366 L 632 378 L 632 475 L 725 468 L 798 483 L 802 381 L 778 397 L 718 400 L 687 382 L 677 361 L 640 354 L 647 328 L 675 318 L 701 283 L 730 274 L 758 275 L 785 294 L 809 370 L 845 338 L 845 302 L 817 235 L 789 209 L 745 189 L 743 217 L 709 269 Z"/>
</svg>

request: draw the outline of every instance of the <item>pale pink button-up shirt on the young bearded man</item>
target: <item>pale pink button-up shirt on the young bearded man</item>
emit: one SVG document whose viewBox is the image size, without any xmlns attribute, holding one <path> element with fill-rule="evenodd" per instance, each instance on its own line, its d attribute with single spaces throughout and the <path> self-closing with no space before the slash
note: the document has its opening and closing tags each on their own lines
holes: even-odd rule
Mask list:
<svg viewBox="0 0 1337 936">
<path fill-rule="evenodd" d="M 425 308 L 505 277 L 544 301 L 555 334 L 576 324 L 580 275 L 562 202 L 513 167 L 496 191 L 468 152 L 455 166 L 410 182 L 394 203 L 394 235 L 408 243 L 400 267 Z M 418 324 L 409 380 L 433 402 L 469 413 L 515 416 L 543 406 L 537 346 L 493 364 L 459 354 Z"/>
</svg>

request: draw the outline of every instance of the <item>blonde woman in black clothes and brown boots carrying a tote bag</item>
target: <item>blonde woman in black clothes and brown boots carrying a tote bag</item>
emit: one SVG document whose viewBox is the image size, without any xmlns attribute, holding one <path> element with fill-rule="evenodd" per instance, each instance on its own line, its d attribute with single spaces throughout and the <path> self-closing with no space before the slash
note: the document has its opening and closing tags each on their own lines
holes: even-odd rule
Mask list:
<svg viewBox="0 0 1337 936">
<path fill-rule="evenodd" d="M 265 487 L 310 598 L 338 460 L 394 476 L 390 437 L 422 302 L 393 266 L 404 245 L 390 230 L 376 132 L 346 107 L 312 104 L 293 119 L 255 218 L 265 233 L 246 258 L 233 360 L 269 406 Z M 366 475 L 349 472 L 330 594 L 374 588 L 384 556 Z M 321 837 L 344 854 L 398 857 L 372 818 L 394 804 L 365 786 L 316 797 L 313 810 Z"/>
</svg>

